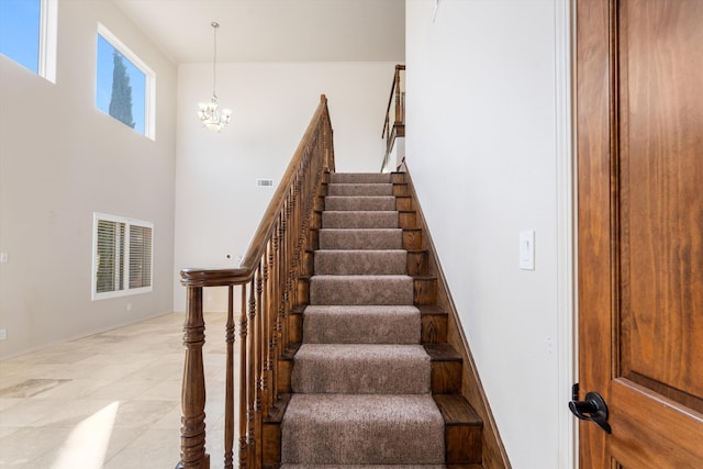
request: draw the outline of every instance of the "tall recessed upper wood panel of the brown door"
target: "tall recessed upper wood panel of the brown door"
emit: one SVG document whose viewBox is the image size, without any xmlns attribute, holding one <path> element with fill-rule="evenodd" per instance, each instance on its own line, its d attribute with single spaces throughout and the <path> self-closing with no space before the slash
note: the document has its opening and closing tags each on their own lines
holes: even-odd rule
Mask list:
<svg viewBox="0 0 703 469">
<path fill-rule="evenodd" d="M 622 373 L 703 411 L 703 2 L 618 21 Z"/>
</svg>

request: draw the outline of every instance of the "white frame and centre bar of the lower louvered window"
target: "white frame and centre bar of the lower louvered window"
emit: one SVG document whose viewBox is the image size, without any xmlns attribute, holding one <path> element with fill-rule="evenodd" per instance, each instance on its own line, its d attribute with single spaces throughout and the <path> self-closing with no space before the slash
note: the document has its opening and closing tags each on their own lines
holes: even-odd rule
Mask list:
<svg viewBox="0 0 703 469">
<path fill-rule="evenodd" d="M 111 291 L 104 291 L 104 292 L 98 292 L 98 242 L 99 242 L 99 234 L 98 234 L 98 225 L 100 222 L 113 222 L 113 223 L 122 223 L 125 225 L 125 230 L 124 230 L 124 241 L 123 241 L 123 245 L 121 246 L 122 253 L 121 256 L 116 256 L 116 257 L 122 257 L 122 271 L 123 271 L 123 279 L 122 279 L 122 289 L 121 290 L 111 290 Z M 130 279 L 131 279 L 131 270 L 130 270 L 130 231 L 132 228 L 132 226 L 135 227 L 145 227 L 145 228 L 149 228 L 152 231 L 152 236 L 150 236 L 150 249 L 149 249 L 149 281 L 148 281 L 148 286 L 145 287 L 130 287 Z M 153 222 L 146 222 L 143 220 L 135 220 L 135 219 L 130 219 L 130 217 L 125 217 L 125 216 L 119 216 L 119 215 L 111 215 L 111 214 L 107 214 L 107 213 L 100 213 L 100 212 L 93 212 L 93 220 L 92 220 L 92 273 L 91 273 L 91 300 L 92 301 L 97 301 L 97 300 L 105 300 L 105 299 L 110 299 L 110 298 L 120 298 L 120 297 L 127 297 L 127 295 L 133 295 L 133 294 L 142 294 L 142 293 L 149 293 L 152 291 L 154 291 L 154 223 Z"/>
</svg>

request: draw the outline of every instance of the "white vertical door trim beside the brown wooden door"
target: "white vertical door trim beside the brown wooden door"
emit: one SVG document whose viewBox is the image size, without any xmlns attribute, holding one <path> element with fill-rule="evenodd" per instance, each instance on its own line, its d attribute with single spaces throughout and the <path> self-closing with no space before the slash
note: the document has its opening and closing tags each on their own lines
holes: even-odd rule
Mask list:
<svg viewBox="0 0 703 469">
<path fill-rule="evenodd" d="M 557 154 L 558 467 L 576 468 L 577 425 L 567 407 L 576 382 L 576 210 L 571 96 L 571 0 L 555 0 L 555 115 Z"/>
</svg>

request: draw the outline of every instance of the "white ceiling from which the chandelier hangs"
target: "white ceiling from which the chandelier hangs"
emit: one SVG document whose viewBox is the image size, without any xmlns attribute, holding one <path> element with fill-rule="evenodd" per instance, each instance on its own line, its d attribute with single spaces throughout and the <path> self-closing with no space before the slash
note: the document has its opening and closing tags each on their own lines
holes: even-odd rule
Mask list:
<svg viewBox="0 0 703 469">
<path fill-rule="evenodd" d="M 405 59 L 404 0 L 115 0 L 174 62 Z"/>
</svg>

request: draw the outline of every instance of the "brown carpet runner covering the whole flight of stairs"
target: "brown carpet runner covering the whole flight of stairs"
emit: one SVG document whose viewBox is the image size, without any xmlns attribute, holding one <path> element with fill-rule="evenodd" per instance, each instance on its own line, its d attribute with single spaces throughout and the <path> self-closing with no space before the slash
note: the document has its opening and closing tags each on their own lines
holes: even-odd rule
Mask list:
<svg viewBox="0 0 703 469">
<path fill-rule="evenodd" d="M 281 468 L 444 468 L 391 176 L 333 174 L 319 245 Z"/>
</svg>

